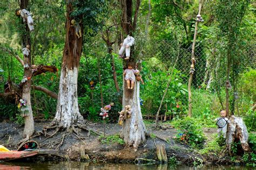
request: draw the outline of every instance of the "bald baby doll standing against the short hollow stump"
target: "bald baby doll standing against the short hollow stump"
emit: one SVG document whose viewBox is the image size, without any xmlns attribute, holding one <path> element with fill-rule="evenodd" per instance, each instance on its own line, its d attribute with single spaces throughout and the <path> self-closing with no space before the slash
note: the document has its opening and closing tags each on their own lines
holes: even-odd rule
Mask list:
<svg viewBox="0 0 256 170">
<path fill-rule="evenodd" d="M 226 138 L 226 133 L 227 133 L 227 123 L 229 123 L 228 119 L 226 118 L 226 111 L 221 110 L 220 111 L 220 117 L 216 118 L 214 121 L 217 121 L 218 125 L 218 137 L 221 136 L 221 133 L 223 133 L 223 137 Z"/>
</svg>

